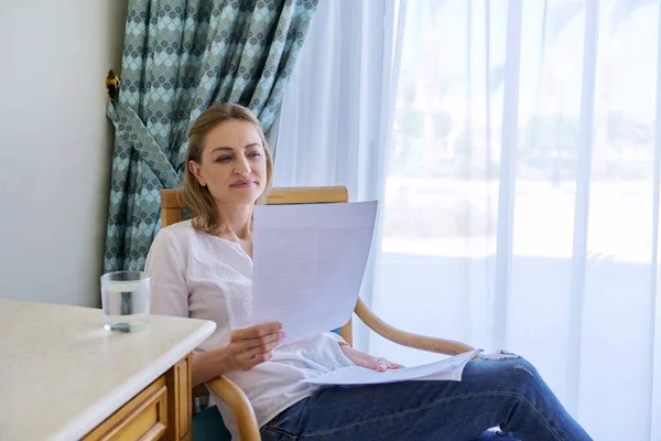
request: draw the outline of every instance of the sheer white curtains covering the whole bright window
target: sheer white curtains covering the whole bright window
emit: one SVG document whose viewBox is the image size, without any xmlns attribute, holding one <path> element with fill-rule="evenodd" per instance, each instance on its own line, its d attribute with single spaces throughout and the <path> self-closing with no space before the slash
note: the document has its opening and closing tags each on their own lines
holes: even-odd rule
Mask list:
<svg viewBox="0 0 661 441">
<path fill-rule="evenodd" d="M 375 312 L 524 355 L 597 440 L 661 440 L 660 2 L 322 3 L 275 181 L 380 198 Z"/>
</svg>

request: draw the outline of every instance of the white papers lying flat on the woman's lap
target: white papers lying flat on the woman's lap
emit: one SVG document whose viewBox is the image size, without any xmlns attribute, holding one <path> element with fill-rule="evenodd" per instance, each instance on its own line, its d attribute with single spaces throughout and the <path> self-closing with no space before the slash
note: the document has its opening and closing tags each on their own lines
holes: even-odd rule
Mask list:
<svg viewBox="0 0 661 441">
<path fill-rule="evenodd" d="M 460 381 L 466 364 L 479 349 L 469 351 L 454 357 L 426 365 L 404 367 L 386 372 L 376 372 L 365 367 L 351 366 L 332 370 L 315 378 L 302 380 L 315 385 L 373 385 L 407 380 L 454 380 Z"/>
</svg>

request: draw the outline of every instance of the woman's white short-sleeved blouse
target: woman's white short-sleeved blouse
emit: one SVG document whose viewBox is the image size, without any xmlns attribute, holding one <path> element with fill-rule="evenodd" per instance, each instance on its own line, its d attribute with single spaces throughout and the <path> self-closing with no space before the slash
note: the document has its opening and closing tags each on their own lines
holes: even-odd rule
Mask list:
<svg viewBox="0 0 661 441">
<path fill-rule="evenodd" d="M 201 233 L 193 228 L 191 220 L 180 222 L 159 232 L 144 270 L 152 278 L 150 308 L 153 314 L 216 322 L 216 331 L 196 351 L 229 343 L 228 308 L 246 301 L 252 286 L 252 260 L 239 244 Z M 353 365 L 338 342 L 344 340 L 327 332 L 281 346 L 270 361 L 248 372 L 226 376 L 246 392 L 261 427 L 318 388 L 301 379 Z M 213 391 L 210 394 L 232 438 L 238 440 L 238 428 L 229 407 Z"/>
</svg>

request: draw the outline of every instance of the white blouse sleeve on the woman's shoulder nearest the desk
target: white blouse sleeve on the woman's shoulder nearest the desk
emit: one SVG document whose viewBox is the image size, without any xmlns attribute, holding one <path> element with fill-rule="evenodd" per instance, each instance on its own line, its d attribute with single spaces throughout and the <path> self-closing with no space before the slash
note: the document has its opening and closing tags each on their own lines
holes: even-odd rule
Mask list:
<svg viewBox="0 0 661 441">
<path fill-rule="evenodd" d="M 150 312 L 187 318 L 186 265 L 172 232 L 163 228 L 156 234 L 147 256 L 144 271 L 151 276 Z"/>
</svg>

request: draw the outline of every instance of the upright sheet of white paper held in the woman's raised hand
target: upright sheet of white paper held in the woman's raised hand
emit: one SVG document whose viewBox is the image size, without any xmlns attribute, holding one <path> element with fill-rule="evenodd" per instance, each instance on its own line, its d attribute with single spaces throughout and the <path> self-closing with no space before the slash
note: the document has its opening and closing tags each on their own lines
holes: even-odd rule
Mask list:
<svg viewBox="0 0 661 441">
<path fill-rule="evenodd" d="M 347 323 L 376 213 L 376 201 L 254 207 L 252 293 L 230 305 L 231 326 L 281 322 L 288 344 Z"/>
</svg>

